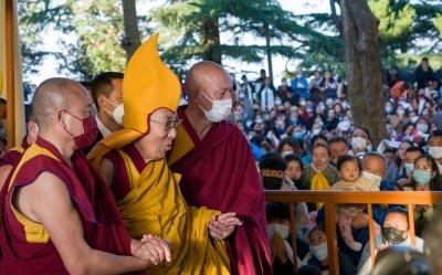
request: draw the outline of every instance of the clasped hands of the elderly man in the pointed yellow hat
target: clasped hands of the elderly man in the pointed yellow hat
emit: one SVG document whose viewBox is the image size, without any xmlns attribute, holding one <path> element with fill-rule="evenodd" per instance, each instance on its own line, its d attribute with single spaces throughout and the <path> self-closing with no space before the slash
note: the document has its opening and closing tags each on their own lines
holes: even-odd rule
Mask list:
<svg viewBox="0 0 442 275">
<path fill-rule="evenodd" d="M 236 225 L 242 225 L 235 213 L 229 212 L 221 215 L 214 215 L 209 223 L 209 235 L 214 240 L 224 240 L 230 236 Z"/>
</svg>

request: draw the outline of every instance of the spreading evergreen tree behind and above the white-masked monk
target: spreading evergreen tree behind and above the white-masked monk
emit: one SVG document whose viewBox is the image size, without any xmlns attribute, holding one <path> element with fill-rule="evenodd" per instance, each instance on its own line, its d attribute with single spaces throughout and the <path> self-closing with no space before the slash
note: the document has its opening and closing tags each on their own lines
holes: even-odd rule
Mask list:
<svg viewBox="0 0 442 275">
<path fill-rule="evenodd" d="M 329 44 L 317 43 L 328 41 L 328 36 L 297 20 L 275 0 L 172 1 L 151 14 L 151 21 L 160 22 L 161 41 L 168 42 L 162 43 L 162 57 L 175 67 L 186 67 L 189 61 L 202 59 L 220 64 L 223 59 L 260 62 L 269 50 L 297 60 L 306 49 L 329 52 Z M 222 35 L 228 40 L 224 43 Z M 244 35 L 254 35 L 256 40 L 243 44 Z M 265 46 L 266 36 L 272 40 L 270 46 Z"/>
</svg>

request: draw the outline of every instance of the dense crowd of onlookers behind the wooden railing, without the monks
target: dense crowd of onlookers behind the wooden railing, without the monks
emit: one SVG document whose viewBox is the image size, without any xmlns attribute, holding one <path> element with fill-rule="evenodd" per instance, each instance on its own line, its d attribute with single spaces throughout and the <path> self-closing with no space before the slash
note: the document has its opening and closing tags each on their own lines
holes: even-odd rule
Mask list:
<svg viewBox="0 0 442 275">
<path fill-rule="evenodd" d="M 231 121 L 250 141 L 264 189 L 442 191 L 442 71 L 433 72 L 428 59 L 406 75 L 398 68 L 387 72 L 385 114 L 380 115 L 386 115 L 388 136 L 377 147 L 370 133 L 352 121 L 355 110 L 346 80 L 338 82 L 329 71 L 324 76 L 315 72 L 308 82 L 297 70 L 292 82 L 283 78 L 277 88 L 264 70 L 255 82 L 248 82 L 246 76 L 242 81 L 236 83 L 238 102 Z M 283 244 L 290 250 L 292 237 L 287 234 L 288 213 L 281 210 L 276 215 L 272 211 L 282 205 L 267 211 L 273 268 L 277 274 L 293 274 L 293 263 L 297 261 L 302 269 L 315 265 L 325 274 L 328 262 L 323 205 L 297 204 L 304 204 L 309 214 L 301 216 L 304 211 L 296 205 L 293 237 L 297 260 L 283 250 Z M 434 216 L 434 207 L 414 207 L 419 253 L 423 252 L 421 237 Z M 368 219 L 373 220 L 377 250 L 411 247 L 412 225 L 408 224 L 403 205 L 373 205 L 372 212 L 372 218 L 368 216 L 361 204 L 337 208 L 340 274 L 370 273 Z M 286 213 L 284 218 L 282 213 Z"/>
</svg>

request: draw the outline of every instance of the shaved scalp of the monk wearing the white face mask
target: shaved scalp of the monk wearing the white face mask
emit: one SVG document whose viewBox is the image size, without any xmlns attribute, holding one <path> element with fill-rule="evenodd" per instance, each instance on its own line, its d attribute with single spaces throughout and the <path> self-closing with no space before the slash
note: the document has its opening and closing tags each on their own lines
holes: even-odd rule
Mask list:
<svg viewBox="0 0 442 275">
<path fill-rule="evenodd" d="M 212 87 L 213 83 L 218 83 L 219 80 L 228 80 L 231 82 L 231 77 L 225 70 L 219 64 L 211 61 L 201 61 L 190 67 L 186 75 L 185 87 L 188 97 L 193 98 L 194 91 L 202 89 L 208 91 Z"/>
</svg>

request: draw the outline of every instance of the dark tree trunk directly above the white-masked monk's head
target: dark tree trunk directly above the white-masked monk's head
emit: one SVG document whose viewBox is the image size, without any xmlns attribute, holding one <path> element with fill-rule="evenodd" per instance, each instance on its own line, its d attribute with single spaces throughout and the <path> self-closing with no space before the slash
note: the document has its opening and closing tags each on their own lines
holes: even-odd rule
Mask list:
<svg viewBox="0 0 442 275">
<path fill-rule="evenodd" d="M 220 25 L 218 20 L 207 20 L 202 23 L 202 43 L 206 51 L 203 60 L 213 61 L 221 65 Z"/>
</svg>

